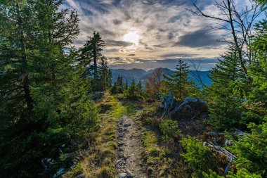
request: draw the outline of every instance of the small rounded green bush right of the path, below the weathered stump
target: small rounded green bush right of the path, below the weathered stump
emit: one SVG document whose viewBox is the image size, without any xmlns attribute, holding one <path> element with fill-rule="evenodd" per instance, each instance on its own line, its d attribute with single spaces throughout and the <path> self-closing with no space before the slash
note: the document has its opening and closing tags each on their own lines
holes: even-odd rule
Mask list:
<svg viewBox="0 0 267 178">
<path fill-rule="evenodd" d="M 164 134 L 166 139 L 177 138 L 181 130 L 178 128 L 178 122 L 176 120 L 162 120 L 159 124 L 159 129 Z"/>
</svg>

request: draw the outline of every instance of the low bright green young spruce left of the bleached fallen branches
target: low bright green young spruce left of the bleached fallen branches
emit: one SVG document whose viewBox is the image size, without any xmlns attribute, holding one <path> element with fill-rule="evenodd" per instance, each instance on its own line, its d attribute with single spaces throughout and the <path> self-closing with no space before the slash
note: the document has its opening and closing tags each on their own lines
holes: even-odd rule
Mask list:
<svg viewBox="0 0 267 178">
<path fill-rule="evenodd" d="M 203 146 L 202 141 L 188 136 L 188 138 L 181 140 L 181 144 L 186 152 L 181 156 L 185 159 L 185 163 L 188 163 L 196 177 L 203 177 L 202 172 L 207 172 L 209 169 L 216 167 L 215 155 L 209 148 Z"/>
</svg>

